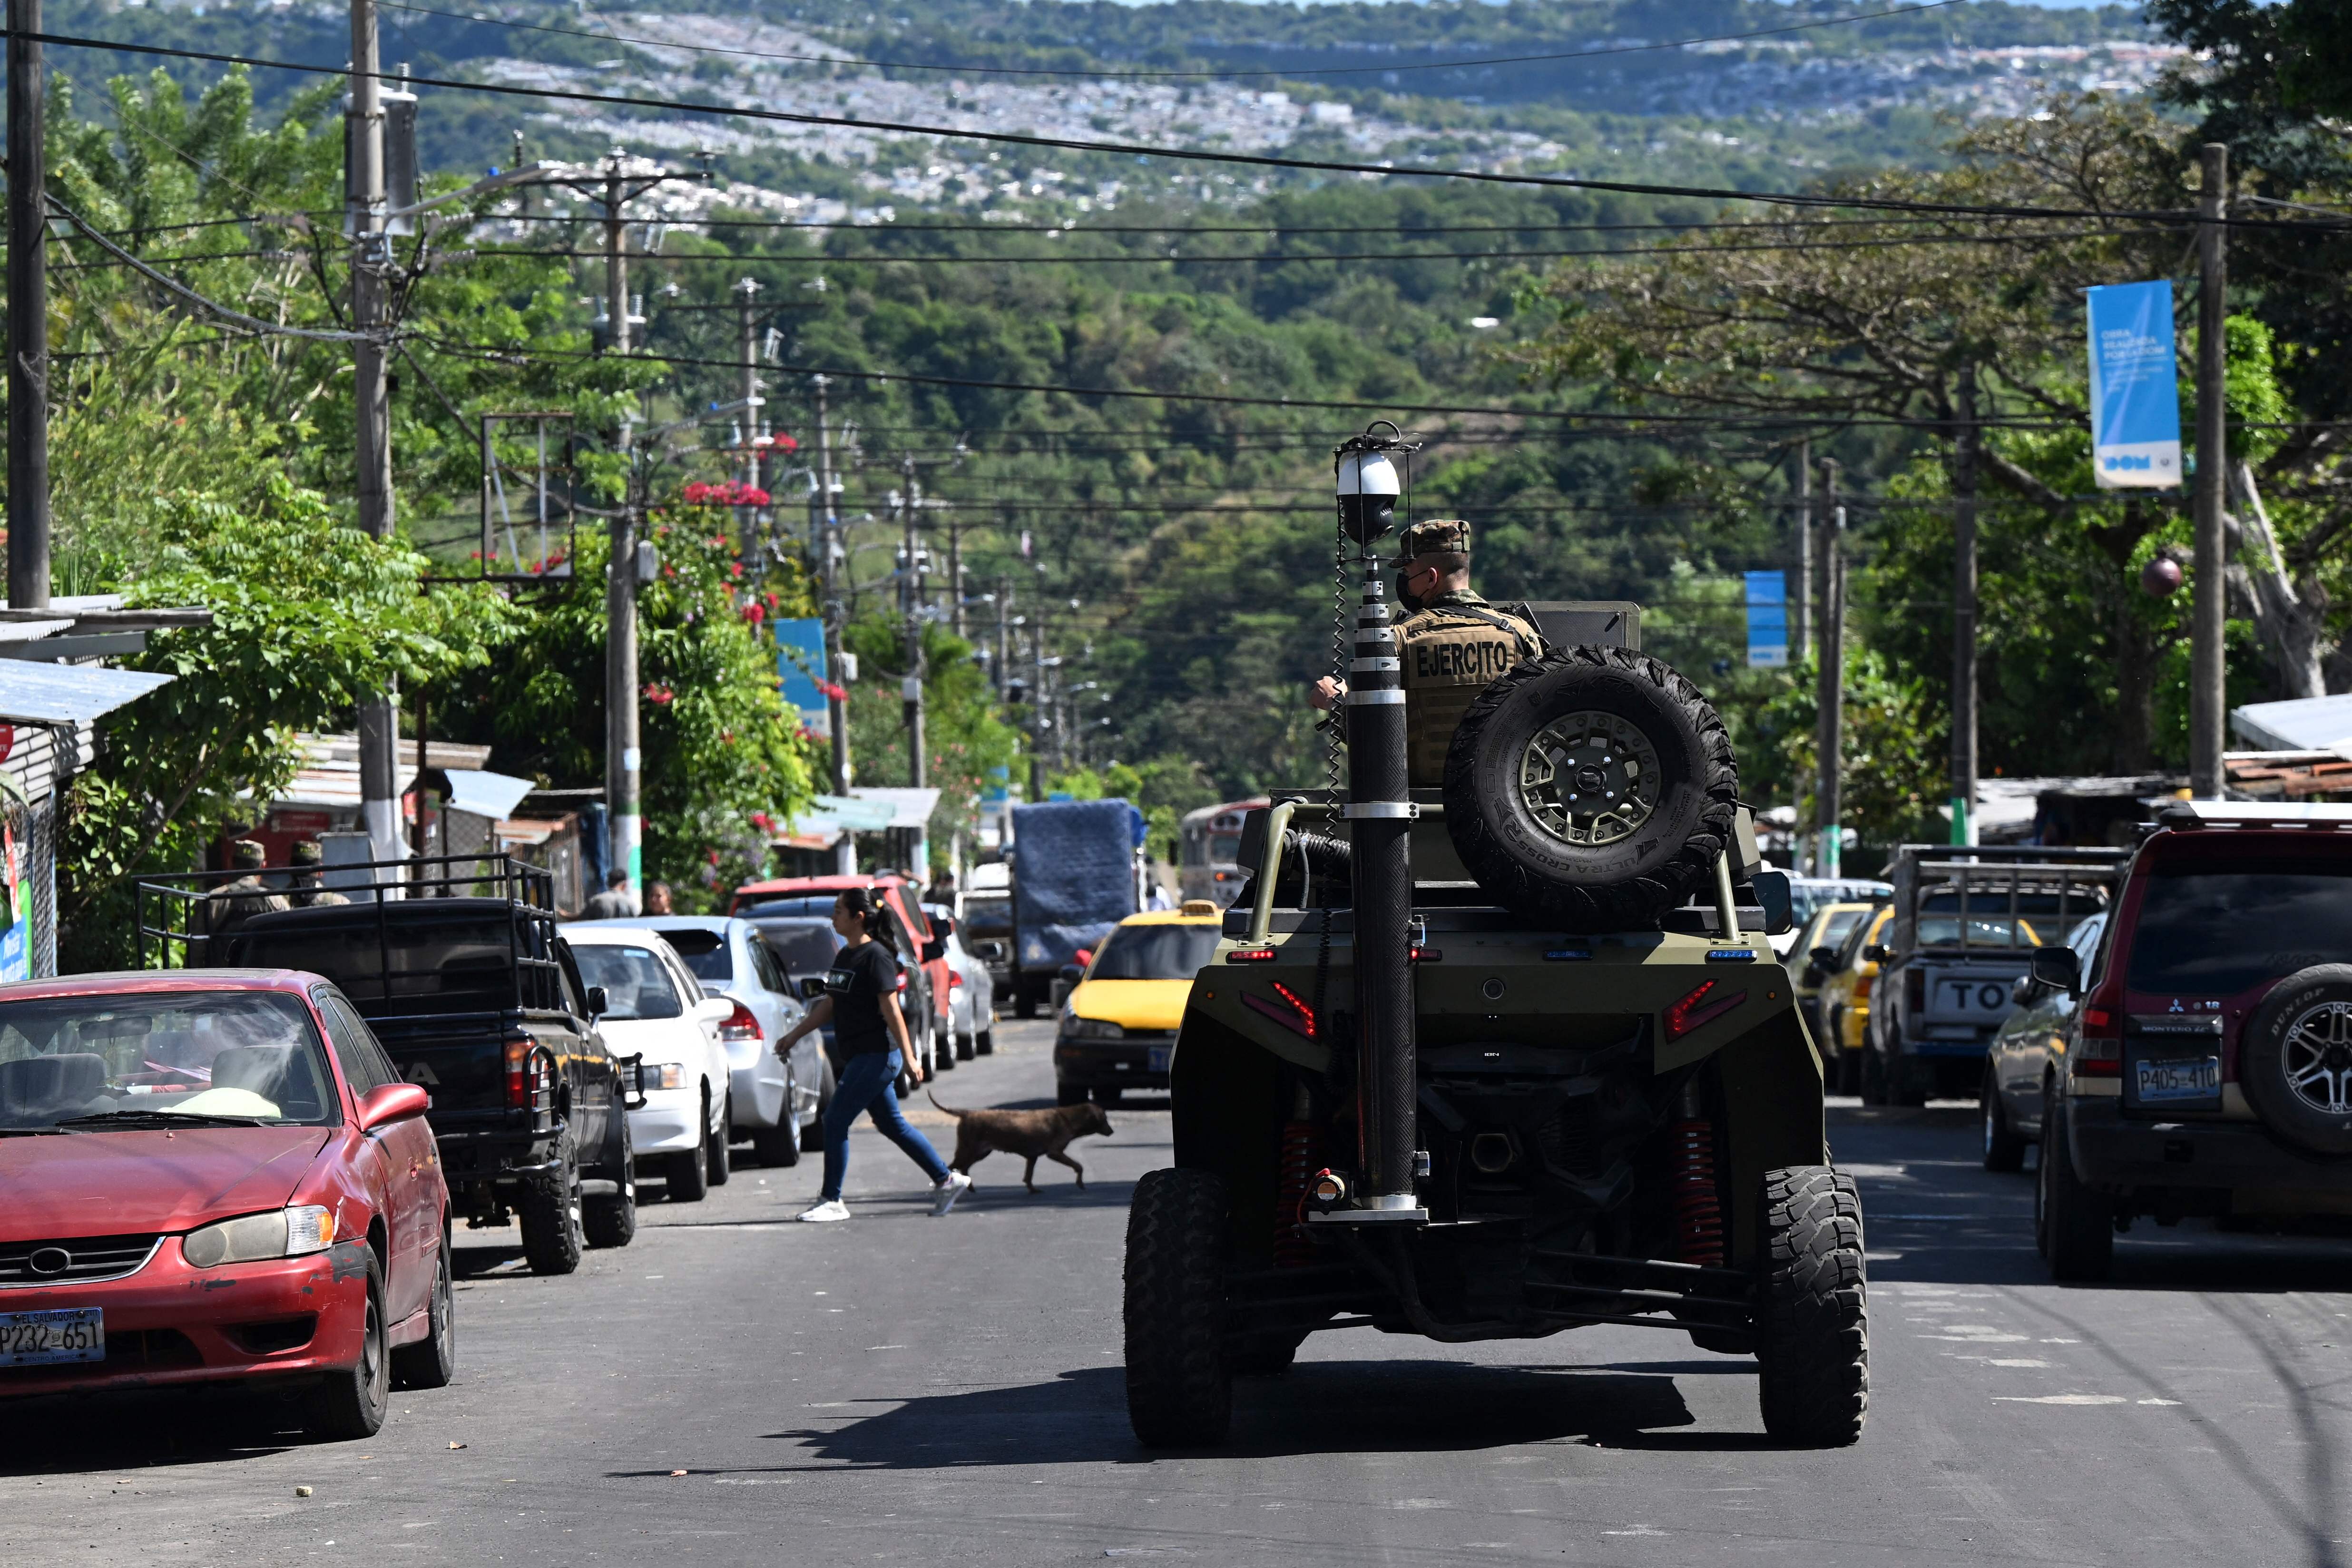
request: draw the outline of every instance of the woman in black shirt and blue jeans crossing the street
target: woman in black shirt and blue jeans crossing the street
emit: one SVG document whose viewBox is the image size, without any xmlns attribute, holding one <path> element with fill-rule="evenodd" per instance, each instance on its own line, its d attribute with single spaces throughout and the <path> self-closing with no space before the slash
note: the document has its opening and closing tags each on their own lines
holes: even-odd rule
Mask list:
<svg viewBox="0 0 2352 1568">
<path fill-rule="evenodd" d="M 891 947 L 889 910 L 866 889 L 844 889 L 833 900 L 833 929 L 842 950 L 826 971 L 826 994 L 800 1023 L 776 1041 L 776 1056 L 790 1053 L 809 1030 L 833 1025 L 833 1105 L 826 1107 L 826 1190 L 802 1220 L 826 1225 L 847 1220 L 842 1178 L 849 1173 L 849 1124 L 870 1112 L 884 1138 L 931 1178 L 931 1215 L 955 1208 L 971 1178 L 950 1171 L 931 1140 L 915 1131 L 898 1110 L 898 1067 L 920 1084 L 922 1063 L 898 1011 L 898 954 Z"/>
</svg>

